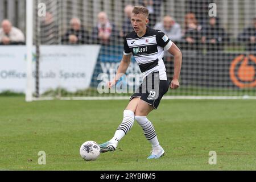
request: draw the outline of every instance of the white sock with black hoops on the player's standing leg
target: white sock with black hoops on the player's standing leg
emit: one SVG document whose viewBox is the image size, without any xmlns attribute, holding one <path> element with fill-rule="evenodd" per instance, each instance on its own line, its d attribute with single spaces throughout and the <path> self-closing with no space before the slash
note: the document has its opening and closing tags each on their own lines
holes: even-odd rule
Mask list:
<svg viewBox="0 0 256 182">
<path fill-rule="evenodd" d="M 156 137 L 155 129 L 146 116 L 135 116 L 135 119 L 141 125 L 146 139 L 151 143 L 153 148 L 160 147 L 158 137 Z"/>
</svg>

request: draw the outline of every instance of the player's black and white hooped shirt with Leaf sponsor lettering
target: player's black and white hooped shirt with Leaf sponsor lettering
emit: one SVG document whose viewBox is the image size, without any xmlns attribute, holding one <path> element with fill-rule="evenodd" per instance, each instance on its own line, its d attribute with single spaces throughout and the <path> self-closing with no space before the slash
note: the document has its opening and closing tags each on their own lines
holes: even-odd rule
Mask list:
<svg viewBox="0 0 256 182">
<path fill-rule="evenodd" d="M 170 49 L 171 46 L 171 40 L 162 31 L 147 27 L 146 34 L 141 38 L 135 31 L 126 35 L 123 54 L 133 53 L 143 77 L 152 72 L 159 72 L 160 80 L 167 80 L 163 56 L 164 50 Z"/>
</svg>

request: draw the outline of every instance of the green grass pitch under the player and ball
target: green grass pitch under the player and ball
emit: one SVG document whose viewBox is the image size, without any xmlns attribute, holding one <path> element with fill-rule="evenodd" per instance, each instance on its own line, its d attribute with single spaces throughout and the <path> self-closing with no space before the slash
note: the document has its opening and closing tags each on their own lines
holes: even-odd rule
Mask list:
<svg viewBox="0 0 256 182">
<path fill-rule="evenodd" d="M 256 170 L 254 100 L 163 100 L 148 119 L 165 156 L 146 159 L 151 146 L 135 122 L 117 151 L 82 160 L 81 144 L 112 138 L 126 105 L 0 97 L 0 170 Z M 38 164 L 39 151 L 46 165 Z"/>
</svg>

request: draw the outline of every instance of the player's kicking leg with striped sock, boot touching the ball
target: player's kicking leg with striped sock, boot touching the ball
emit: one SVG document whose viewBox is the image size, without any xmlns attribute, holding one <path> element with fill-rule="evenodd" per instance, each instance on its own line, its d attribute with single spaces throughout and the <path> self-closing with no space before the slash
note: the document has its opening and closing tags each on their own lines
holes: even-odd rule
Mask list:
<svg viewBox="0 0 256 182">
<path fill-rule="evenodd" d="M 100 152 L 115 151 L 117 149 L 117 144 L 127 133 L 130 131 L 134 123 L 134 113 L 137 109 L 140 97 L 134 97 L 131 99 L 126 109 L 123 111 L 123 120 L 121 125 L 118 126 L 115 131 L 114 137 L 108 142 L 100 144 Z"/>
</svg>

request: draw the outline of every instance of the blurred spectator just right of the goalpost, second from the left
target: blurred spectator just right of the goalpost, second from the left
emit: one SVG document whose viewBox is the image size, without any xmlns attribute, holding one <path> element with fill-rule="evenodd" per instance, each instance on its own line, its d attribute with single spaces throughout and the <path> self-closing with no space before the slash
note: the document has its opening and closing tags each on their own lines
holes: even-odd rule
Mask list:
<svg viewBox="0 0 256 182">
<path fill-rule="evenodd" d="M 51 13 L 46 13 L 46 17 L 43 18 L 40 27 L 41 44 L 58 44 L 58 27 L 54 22 L 53 15 Z"/>
</svg>

